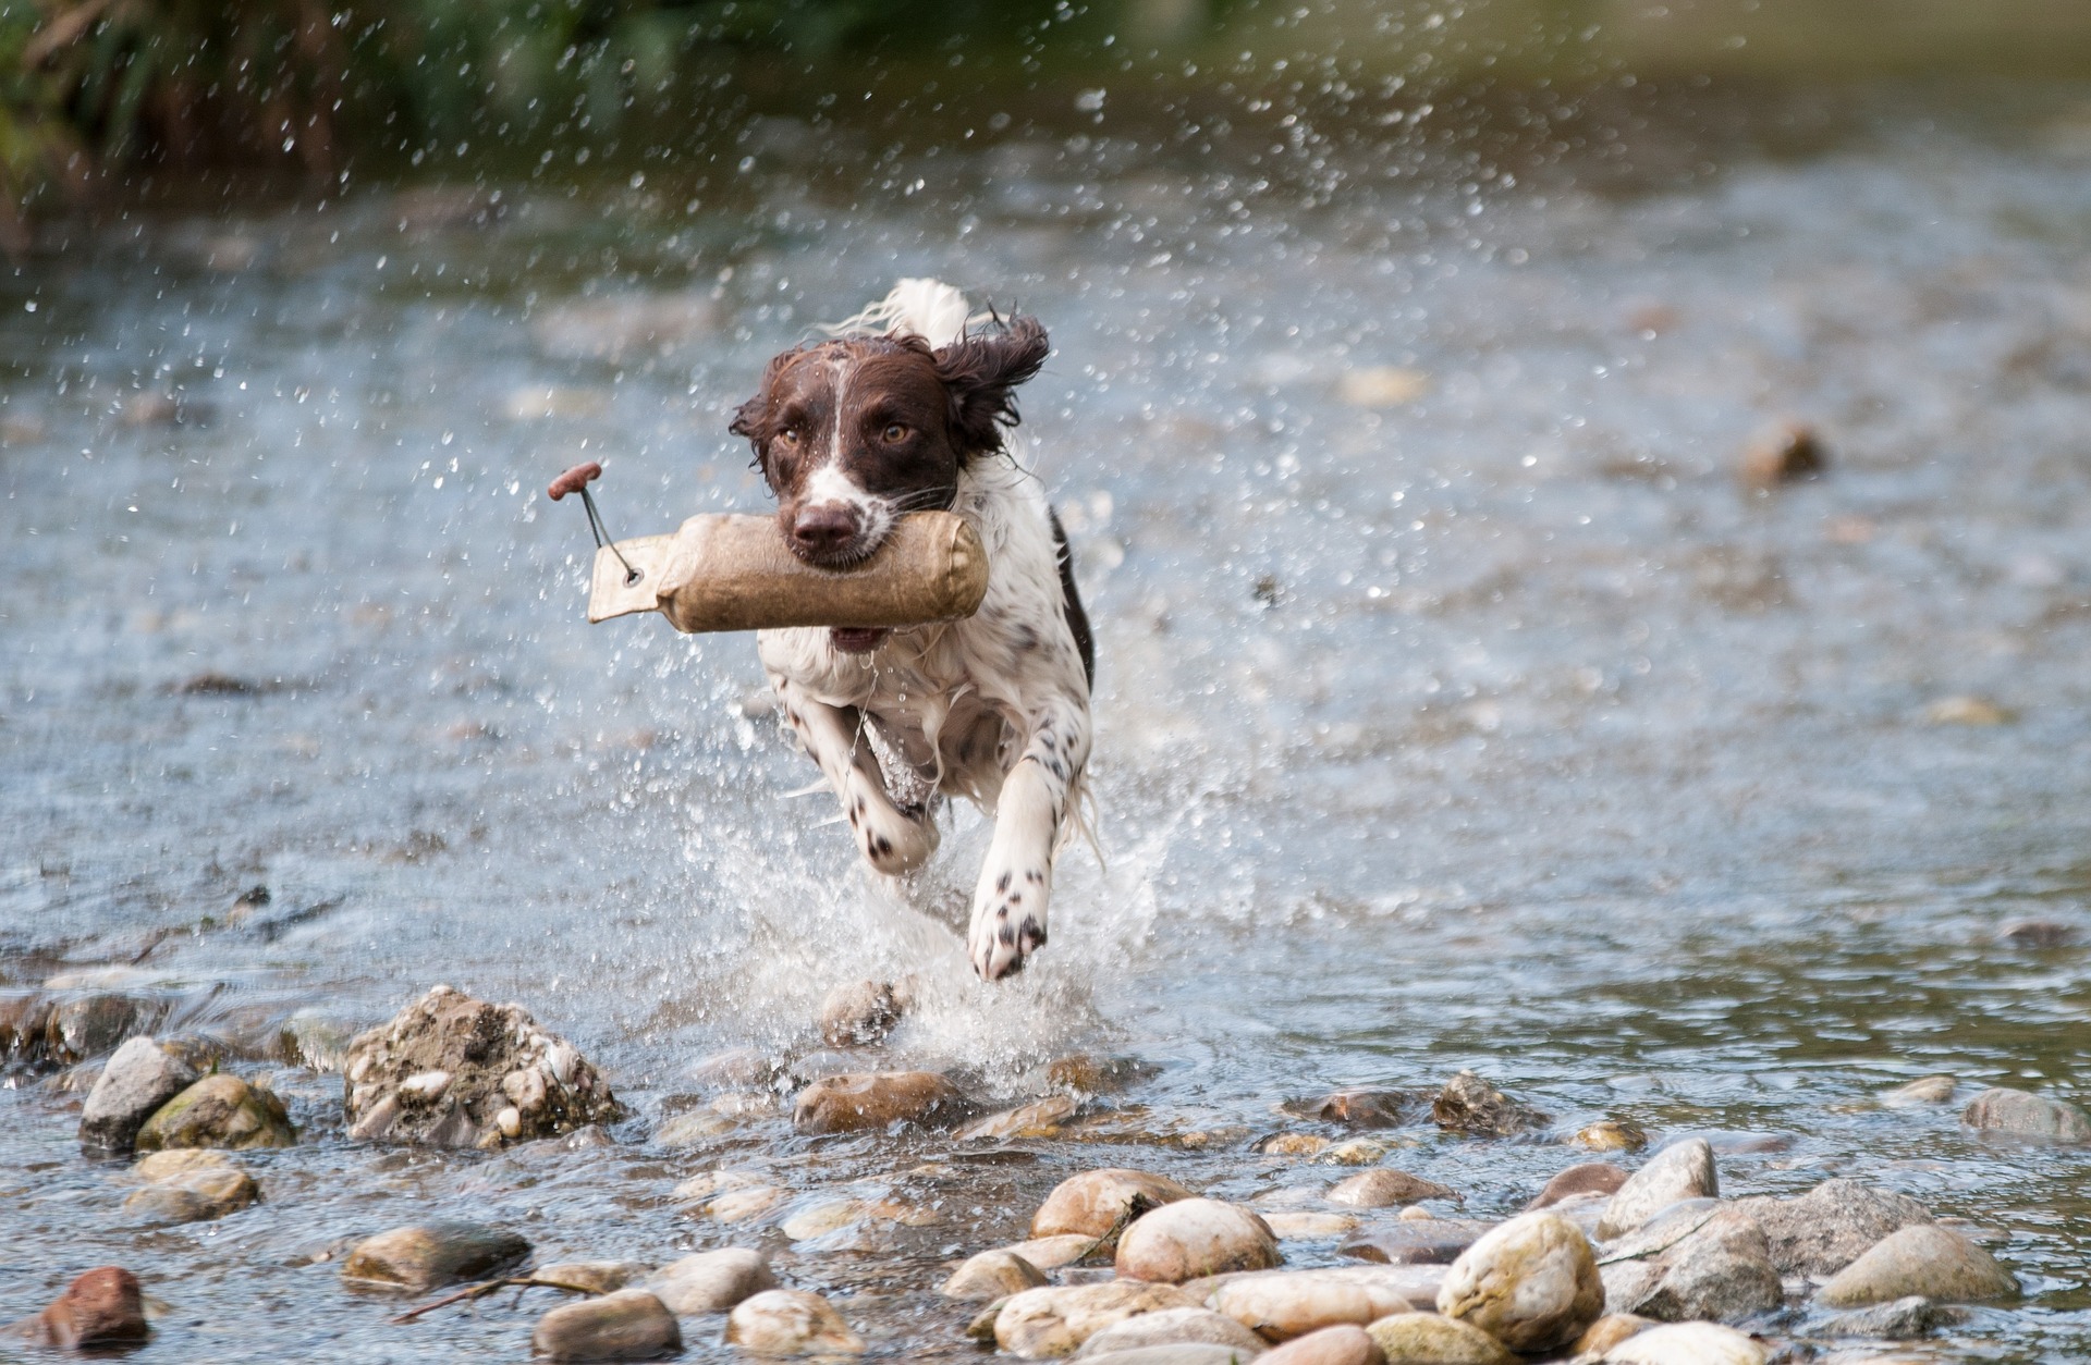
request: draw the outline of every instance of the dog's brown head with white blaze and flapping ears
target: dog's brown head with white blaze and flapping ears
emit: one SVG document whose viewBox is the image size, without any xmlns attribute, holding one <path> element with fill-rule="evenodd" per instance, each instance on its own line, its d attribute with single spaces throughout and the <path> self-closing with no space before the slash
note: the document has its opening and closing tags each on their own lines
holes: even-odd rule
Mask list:
<svg viewBox="0 0 2091 1365">
<path fill-rule="evenodd" d="M 807 564 L 870 558 L 901 512 L 949 508 L 968 460 L 1002 449 L 1016 385 L 1046 364 L 1035 318 L 930 349 L 847 337 L 784 351 L 734 414 L 778 498 L 778 531 Z"/>
</svg>

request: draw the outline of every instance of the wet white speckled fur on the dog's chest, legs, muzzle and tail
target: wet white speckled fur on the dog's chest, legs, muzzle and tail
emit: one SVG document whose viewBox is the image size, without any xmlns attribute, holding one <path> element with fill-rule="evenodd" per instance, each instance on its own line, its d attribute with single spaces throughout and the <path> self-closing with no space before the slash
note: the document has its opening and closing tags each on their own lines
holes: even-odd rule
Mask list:
<svg viewBox="0 0 2091 1365">
<path fill-rule="evenodd" d="M 968 316 L 949 284 L 901 280 L 836 330 L 914 332 L 945 347 L 964 334 Z M 1050 512 L 1022 456 L 1012 431 L 1006 454 L 976 456 L 958 477 L 951 510 L 987 548 L 979 612 L 897 629 L 872 654 L 836 650 L 818 627 L 757 633 L 784 723 L 841 796 L 876 872 L 899 876 L 928 861 L 941 796 L 968 796 L 995 817 L 966 934 L 987 980 L 1046 943 L 1054 855 L 1079 824 L 1092 736 L 1089 681 L 1062 608 Z M 868 525 L 895 514 L 836 468 L 811 479 L 866 508 Z M 872 740 L 897 769 L 891 782 Z"/>
</svg>

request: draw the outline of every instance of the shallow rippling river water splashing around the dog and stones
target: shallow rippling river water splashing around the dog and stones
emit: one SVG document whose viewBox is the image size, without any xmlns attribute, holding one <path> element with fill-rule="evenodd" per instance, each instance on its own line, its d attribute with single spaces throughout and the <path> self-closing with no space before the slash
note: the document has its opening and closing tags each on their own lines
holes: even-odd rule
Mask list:
<svg viewBox="0 0 2091 1365">
<path fill-rule="evenodd" d="M 115 1260 L 167 1304 L 140 1359 L 521 1357 L 548 1302 L 391 1327 L 312 1260 L 447 1212 L 539 1260 L 763 1242 L 876 1355 L 970 1359 L 941 1265 L 1062 1175 L 1313 1187 L 1342 1171 L 1253 1152 L 1311 1129 L 1276 1104 L 1472 1066 L 1556 1135 L 1723 1135 L 1729 1192 L 1853 1175 L 1997 1229 L 2026 1302 L 1938 1359 L 2091 1350 L 2091 1162 L 1871 1104 L 2081 1087 L 2083 949 L 2001 930 L 2091 897 L 2091 90 L 1529 92 L 1443 130 L 1198 98 L 974 138 L 753 121 L 738 171 L 573 194 L 163 205 L 6 278 L 0 972 L 167 999 L 307 1141 L 251 1158 L 259 1208 L 138 1231 L 77 1091 L 19 1074 L 0 1317 Z M 912 897 L 870 886 L 824 799 L 782 799 L 811 769 L 749 715 L 751 640 L 588 627 L 581 514 L 542 493 L 600 456 L 621 535 L 763 506 L 728 412 L 903 274 L 1052 330 L 1025 416 L 1100 635 L 1104 861 L 1066 855 L 999 989 L 958 924 L 979 819 Z M 1830 475 L 1740 487 L 1782 418 Z M 1928 719 L 1961 696 L 2005 723 Z M 1073 1051 L 1156 1072 L 1058 1139 L 782 1110 L 652 1139 L 719 1049 L 866 1064 L 813 1012 L 901 972 L 926 1005 L 874 1064 L 987 1100 Z M 339 1077 L 272 1039 L 437 980 L 523 1001 L 638 1116 L 347 1146 Z M 1579 1158 L 1399 1139 L 1485 1214 Z M 719 1166 L 790 1202 L 677 1208 Z M 941 1221 L 774 1229 L 836 1194 Z"/>
</svg>

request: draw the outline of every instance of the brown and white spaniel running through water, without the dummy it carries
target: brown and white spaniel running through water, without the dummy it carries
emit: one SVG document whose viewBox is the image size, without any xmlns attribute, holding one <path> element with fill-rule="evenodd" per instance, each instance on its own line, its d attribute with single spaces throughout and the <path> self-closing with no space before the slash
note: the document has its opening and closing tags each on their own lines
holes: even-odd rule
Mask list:
<svg viewBox="0 0 2091 1365">
<path fill-rule="evenodd" d="M 1096 644 L 1014 431 L 1014 391 L 1046 353 L 1035 318 L 974 320 L 949 284 L 901 280 L 830 341 L 776 355 L 730 426 L 807 564 L 857 564 L 897 516 L 928 508 L 966 518 L 987 548 L 987 598 L 962 621 L 755 638 L 786 732 L 874 872 L 926 863 L 949 796 L 993 815 L 966 934 L 983 980 L 1046 945 L 1054 857 L 1081 826 L 1089 763 Z"/>
</svg>

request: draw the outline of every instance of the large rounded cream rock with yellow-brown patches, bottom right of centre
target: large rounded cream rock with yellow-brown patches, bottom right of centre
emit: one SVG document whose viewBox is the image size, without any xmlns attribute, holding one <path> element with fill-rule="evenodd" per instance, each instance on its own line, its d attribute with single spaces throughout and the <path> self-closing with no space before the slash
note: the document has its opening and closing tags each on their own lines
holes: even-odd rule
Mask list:
<svg viewBox="0 0 2091 1365">
<path fill-rule="evenodd" d="M 1589 1237 L 1575 1223 L 1526 1212 L 1451 1263 L 1437 1309 L 1512 1350 L 1552 1350 L 1598 1321 L 1604 1281 Z"/>
</svg>

